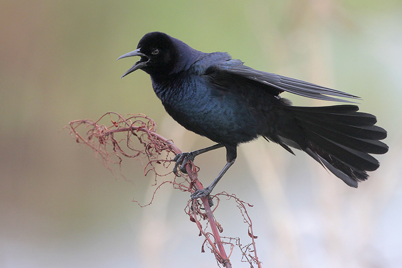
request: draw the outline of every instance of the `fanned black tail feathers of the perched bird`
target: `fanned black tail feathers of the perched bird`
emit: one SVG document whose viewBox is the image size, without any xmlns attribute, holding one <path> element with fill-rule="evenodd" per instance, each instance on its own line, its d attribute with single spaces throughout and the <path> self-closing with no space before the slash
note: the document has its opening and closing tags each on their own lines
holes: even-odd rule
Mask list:
<svg viewBox="0 0 402 268">
<path fill-rule="evenodd" d="M 375 115 L 358 112 L 356 105 L 324 107 L 280 106 L 277 137 L 271 140 L 309 154 L 347 185 L 368 178 L 366 171 L 379 167 L 369 154 L 385 154 L 385 129 L 374 125 Z"/>
</svg>

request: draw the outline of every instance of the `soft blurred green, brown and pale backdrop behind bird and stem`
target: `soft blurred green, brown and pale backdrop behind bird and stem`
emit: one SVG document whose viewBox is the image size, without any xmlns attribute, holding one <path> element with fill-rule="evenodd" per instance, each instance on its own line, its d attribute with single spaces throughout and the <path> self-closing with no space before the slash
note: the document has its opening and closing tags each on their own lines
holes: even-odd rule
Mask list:
<svg viewBox="0 0 402 268">
<path fill-rule="evenodd" d="M 170 186 L 151 206 L 152 176 L 124 160 L 117 179 L 62 130 L 105 112 L 145 113 L 182 151 L 213 143 L 164 111 L 149 76 L 120 77 L 116 59 L 162 31 L 248 66 L 358 96 L 377 115 L 390 150 L 358 189 L 306 154 L 260 139 L 242 145 L 216 192 L 248 212 L 264 267 L 402 266 L 402 2 L 7 1 L 0 3 L 0 267 L 214 267 Z M 290 94 L 295 105 L 330 105 Z M 62 131 L 60 131 L 62 130 Z M 208 185 L 225 150 L 199 156 Z M 249 242 L 235 204 L 215 212 L 225 236 Z M 240 262 L 239 250 L 232 256 Z"/>
</svg>

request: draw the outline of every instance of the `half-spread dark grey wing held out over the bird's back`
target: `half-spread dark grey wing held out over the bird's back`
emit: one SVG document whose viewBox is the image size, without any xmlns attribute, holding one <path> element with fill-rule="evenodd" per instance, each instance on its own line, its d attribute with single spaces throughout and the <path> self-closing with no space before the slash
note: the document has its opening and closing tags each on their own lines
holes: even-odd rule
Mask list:
<svg viewBox="0 0 402 268">
<path fill-rule="evenodd" d="M 241 77 L 254 80 L 267 85 L 266 89 L 274 95 L 279 95 L 281 92 L 286 91 L 304 97 L 331 101 L 353 102 L 331 96 L 360 99 L 358 96 L 339 90 L 274 73 L 258 71 L 243 65 L 243 62 L 240 60 L 230 59 L 219 61 L 211 65 L 205 74 L 210 75 L 217 84 L 222 83 L 221 81 L 239 79 Z"/>
</svg>

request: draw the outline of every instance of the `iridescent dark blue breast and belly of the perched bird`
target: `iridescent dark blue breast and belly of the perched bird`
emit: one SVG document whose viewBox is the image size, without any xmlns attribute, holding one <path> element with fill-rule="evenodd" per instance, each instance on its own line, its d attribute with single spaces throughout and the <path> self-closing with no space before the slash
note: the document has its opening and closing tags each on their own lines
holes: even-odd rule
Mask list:
<svg viewBox="0 0 402 268">
<path fill-rule="evenodd" d="M 258 136 L 257 120 L 247 103 L 236 94 L 216 91 L 206 80 L 185 78 L 154 85 L 154 90 L 169 115 L 199 135 L 233 144 Z"/>
</svg>

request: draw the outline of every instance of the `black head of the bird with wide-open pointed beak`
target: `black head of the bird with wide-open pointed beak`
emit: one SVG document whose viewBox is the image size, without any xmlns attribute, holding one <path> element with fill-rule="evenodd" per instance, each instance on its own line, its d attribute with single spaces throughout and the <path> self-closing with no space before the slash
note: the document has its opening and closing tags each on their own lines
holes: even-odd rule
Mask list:
<svg viewBox="0 0 402 268">
<path fill-rule="evenodd" d="M 173 44 L 174 40 L 174 38 L 160 32 L 146 34 L 138 42 L 136 50 L 118 58 L 119 60 L 132 56 L 141 57 L 122 78 L 138 69 L 142 69 L 150 75 L 169 73 L 174 68 L 177 54 Z"/>
</svg>

